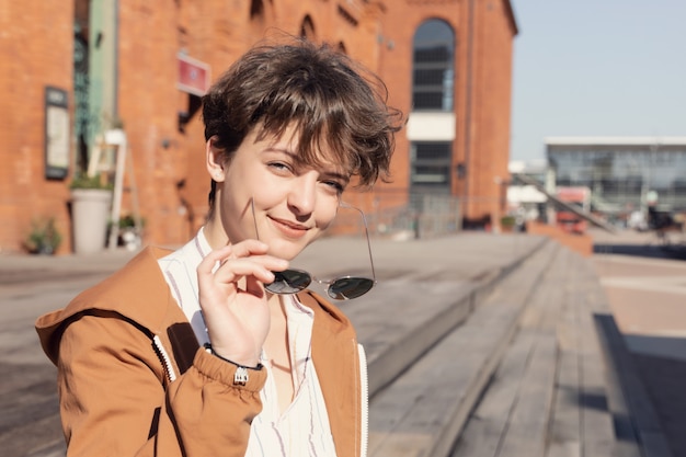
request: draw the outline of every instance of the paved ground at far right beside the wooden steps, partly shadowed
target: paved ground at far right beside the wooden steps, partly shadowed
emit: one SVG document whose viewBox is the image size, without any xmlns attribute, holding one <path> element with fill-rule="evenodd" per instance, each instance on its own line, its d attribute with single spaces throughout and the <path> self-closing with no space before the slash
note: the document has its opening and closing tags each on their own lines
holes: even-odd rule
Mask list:
<svg viewBox="0 0 686 457">
<path fill-rule="evenodd" d="M 686 247 L 594 233 L 593 264 L 674 456 L 686 455 Z"/>
</svg>

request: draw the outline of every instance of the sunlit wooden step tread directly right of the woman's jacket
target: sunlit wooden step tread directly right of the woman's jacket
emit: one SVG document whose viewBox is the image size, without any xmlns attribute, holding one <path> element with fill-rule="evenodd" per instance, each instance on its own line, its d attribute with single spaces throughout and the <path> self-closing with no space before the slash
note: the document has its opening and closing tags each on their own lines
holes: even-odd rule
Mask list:
<svg viewBox="0 0 686 457">
<path fill-rule="evenodd" d="M 557 250 L 550 242 L 522 263 L 460 327 L 373 398 L 370 456 L 449 454 Z"/>
</svg>

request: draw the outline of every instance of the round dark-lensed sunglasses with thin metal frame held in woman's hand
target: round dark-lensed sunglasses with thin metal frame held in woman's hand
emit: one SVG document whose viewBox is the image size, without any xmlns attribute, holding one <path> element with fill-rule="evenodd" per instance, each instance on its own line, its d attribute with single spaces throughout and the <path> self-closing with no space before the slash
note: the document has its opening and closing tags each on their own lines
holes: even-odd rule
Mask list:
<svg viewBox="0 0 686 457">
<path fill-rule="evenodd" d="M 369 242 L 369 229 L 367 227 L 367 218 L 362 209 L 351 206 L 346 203 L 340 203 L 343 208 L 355 209 L 362 216 L 362 221 L 365 226 L 365 236 L 367 238 L 367 252 L 369 253 L 369 264 L 371 265 L 371 278 L 364 276 L 339 276 L 333 279 L 318 279 L 305 270 L 288 269 L 283 272 L 273 272 L 274 282 L 265 284 L 264 288 L 272 294 L 288 295 L 297 294 L 305 290 L 312 281 L 322 284 L 327 287 L 327 295 L 334 300 L 351 300 L 353 298 L 361 297 L 368 293 L 376 284 L 376 273 L 374 272 L 374 259 L 371 258 L 371 243 Z M 260 240 L 260 232 L 258 231 L 258 220 L 255 218 L 255 204 L 251 199 L 252 218 L 255 225 L 255 236 Z"/>
</svg>

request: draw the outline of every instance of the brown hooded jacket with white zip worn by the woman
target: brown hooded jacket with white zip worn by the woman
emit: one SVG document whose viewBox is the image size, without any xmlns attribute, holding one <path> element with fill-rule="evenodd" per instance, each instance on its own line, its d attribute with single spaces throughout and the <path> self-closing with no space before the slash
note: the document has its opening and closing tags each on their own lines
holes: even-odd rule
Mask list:
<svg viewBox="0 0 686 457">
<path fill-rule="evenodd" d="M 41 317 L 43 350 L 58 367 L 69 456 L 244 456 L 266 372 L 236 367 L 199 347 L 147 248 L 124 269 Z M 357 341 L 350 321 L 307 292 L 312 361 L 339 457 L 366 447 Z"/>
</svg>

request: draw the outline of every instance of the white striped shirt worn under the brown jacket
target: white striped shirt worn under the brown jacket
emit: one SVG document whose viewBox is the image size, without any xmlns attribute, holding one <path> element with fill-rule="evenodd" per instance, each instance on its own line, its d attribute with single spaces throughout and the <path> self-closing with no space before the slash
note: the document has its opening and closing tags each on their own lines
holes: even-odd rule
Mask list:
<svg viewBox="0 0 686 457">
<path fill-rule="evenodd" d="M 197 265 L 211 251 L 203 229 L 178 251 L 158 261 L 173 297 L 201 345 L 209 342 L 198 301 Z M 335 457 L 327 405 L 311 359 L 315 313 L 295 295 L 281 297 L 286 310 L 295 398 L 279 412 L 268 354 L 262 354 L 267 380 L 260 392 L 263 410 L 250 429 L 247 457 Z"/>
</svg>

